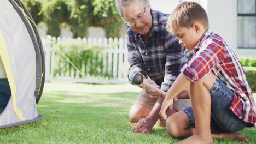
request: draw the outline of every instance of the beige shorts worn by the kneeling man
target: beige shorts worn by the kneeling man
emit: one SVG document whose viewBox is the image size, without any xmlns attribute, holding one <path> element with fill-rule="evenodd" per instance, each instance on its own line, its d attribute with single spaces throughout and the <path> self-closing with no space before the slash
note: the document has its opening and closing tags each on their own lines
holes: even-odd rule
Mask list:
<svg viewBox="0 0 256 144">
<path fill-rule="evenodd" d="M 149 107 L 150 109 L 153 109 L 153 106 L 155 105 L 156 101 L 158 99 L 151 99 L 149 98 L 148 94 L 143 89 L 138 97 L 136 98 L 135 102 L 133 104 L 141 104 Z M 190 99 L 178 99 L 175 103 L 173 103 L 173 108 L 177 111 L 185 109 L 187 107 L 191 106 Z"/>
</svg>

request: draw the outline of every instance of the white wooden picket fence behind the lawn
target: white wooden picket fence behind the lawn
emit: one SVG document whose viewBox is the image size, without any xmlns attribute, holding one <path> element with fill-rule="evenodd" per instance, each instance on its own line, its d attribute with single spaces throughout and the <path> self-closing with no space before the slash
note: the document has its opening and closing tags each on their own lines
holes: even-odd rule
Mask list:
<svg viewBox="0 0 256 144">
<path fill-rule="evenodd" d="M 107 70 L 107 73 L 112 74 L 111 77 L 104 76 L 90 76 L 88 73 L 84 73 L 84 66 L 82 66 L 82 75 L 79 77 L 79 71 L 73 67 L 69 74 L 56 74 L 54 76 L 54 70 L 60 66 L 58 62 L 55 62 L 55 57 L 60 58 L 63 61 L 67 61 L 64 56 L 59 57 L 55 55 L 56 44 L 66 43 L 72 41 L 73 43 L 79 43 L 84 45 L 99 44 L 104 45 L 105 49 L 103 53 L 103 71 Z M 83 83 L 127 83 L 127 74 L 129 70 L 128 52 L 126 46 L 126 39 L 120 38 L 55 38 L 47 36 L 42 38 L 42 43 L 45 51 L 45 82 L 49 81 L 67 81 L 67 82 L 83 82 Z M 109 45 L 113 47 L 109 48 Z M 99 56 L 101 57 L 101 56 Z M 108 57 L 108 58 L 106 58 Z M 106 60 L 108 59 L 108 61 Z M 108 68 L 106 67 L 108 65 Z M 88 68 L 87 68 L 88 69 Z"/>
</svg>

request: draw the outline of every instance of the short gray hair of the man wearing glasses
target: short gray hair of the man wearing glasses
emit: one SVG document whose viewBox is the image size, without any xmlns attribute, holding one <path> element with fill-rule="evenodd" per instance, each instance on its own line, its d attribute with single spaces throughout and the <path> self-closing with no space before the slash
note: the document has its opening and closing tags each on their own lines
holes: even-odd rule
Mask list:
<svg viewBox="0 0 256 144">
<path fill-rule="evenodd" d="M 133 3 L 134 0 L 115 0 L 115 7 L 117 7 L 118 13 L 124 18 L 123 8 Z M 138 0 L 142 4 L 147 6 L 148 0 Z"/>
</svg>

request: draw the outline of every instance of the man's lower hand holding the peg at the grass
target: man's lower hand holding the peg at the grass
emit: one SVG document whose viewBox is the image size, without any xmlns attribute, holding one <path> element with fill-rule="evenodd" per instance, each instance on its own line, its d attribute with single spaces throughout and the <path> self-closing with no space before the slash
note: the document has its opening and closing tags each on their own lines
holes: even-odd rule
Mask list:
<svg viewBox="0 0 256 144">
<path fill-rule="evenodd" d="M 141 121 L 132 127 L 132 130 L 135 130 L 133 131 L 133 133 L 144 133 L 144 134 L 150 133 L 150 131 L 154 126 L 154 123 L 152 122 L 152 119 L 147 117 L 144 118 L 144 121 Z"/>
</svg>

